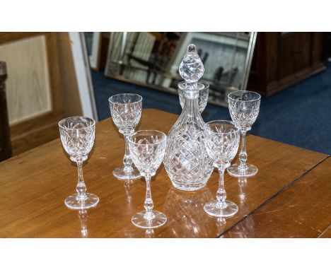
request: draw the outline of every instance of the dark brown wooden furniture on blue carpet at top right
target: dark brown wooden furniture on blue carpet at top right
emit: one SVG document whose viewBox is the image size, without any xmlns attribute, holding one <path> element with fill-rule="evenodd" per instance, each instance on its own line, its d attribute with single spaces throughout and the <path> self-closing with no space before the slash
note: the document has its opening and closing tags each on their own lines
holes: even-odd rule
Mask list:
<svg viewBox="0 0 331 270">
<path fill-rule="evenodd" d="M 324 69 L 323 33 L 258 33 L 247 90 L 273 95 Z"/>
</svg>

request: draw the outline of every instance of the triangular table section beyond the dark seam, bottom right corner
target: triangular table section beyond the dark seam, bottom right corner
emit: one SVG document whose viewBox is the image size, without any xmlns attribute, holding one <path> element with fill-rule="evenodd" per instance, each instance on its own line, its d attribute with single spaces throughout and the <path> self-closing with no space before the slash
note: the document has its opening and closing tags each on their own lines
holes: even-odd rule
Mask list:
<svg viewBox="0 0 331 270">
<path fill-rule="evenodd" d="M 330 237 L 330 175 L 327 158 L 223 237 Z"/>
</svg>

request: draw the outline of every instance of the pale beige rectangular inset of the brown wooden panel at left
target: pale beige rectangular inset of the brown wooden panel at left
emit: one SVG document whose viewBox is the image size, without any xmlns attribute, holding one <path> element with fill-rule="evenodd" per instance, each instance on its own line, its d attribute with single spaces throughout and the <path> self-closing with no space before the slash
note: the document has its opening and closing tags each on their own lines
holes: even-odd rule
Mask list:
<svg viewBox="0 0 331 270">
<path fill-rule="evenodd" d="M 52 110 L 45 36 L 0 45 L 6 61 L 9 124 Z"/>
</svg>

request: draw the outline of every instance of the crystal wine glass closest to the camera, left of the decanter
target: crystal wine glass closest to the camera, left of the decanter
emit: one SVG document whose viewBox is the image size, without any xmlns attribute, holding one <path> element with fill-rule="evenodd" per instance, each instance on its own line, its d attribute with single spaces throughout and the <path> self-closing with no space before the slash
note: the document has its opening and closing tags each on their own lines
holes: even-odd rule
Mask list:
<svg viewBox="0 0 331 270">
<path fill-rule="evenodd" d="M 134 165 L 146 180 L 144 208 L 132 216 L 132 223 L 139 228 L 157 228 L 167 221 L 164 213 L 153 210 L 151 177 L 161 165 L 165 153 L 167 136 L 161 131 L 141 130 L 129 136 L 129 150 Z"/>
</svg>

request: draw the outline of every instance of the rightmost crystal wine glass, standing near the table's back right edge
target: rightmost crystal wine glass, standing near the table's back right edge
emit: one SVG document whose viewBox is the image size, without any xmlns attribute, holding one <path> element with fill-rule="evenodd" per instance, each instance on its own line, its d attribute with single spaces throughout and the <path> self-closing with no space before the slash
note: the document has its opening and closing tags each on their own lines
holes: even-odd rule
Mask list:
<svg viewBox="0 0 331 270">
<path fill-rule="evenodd" d="M 251 129 L 259 114 L 260 101 L 260 94 L 255 92 L 235 91 L 228 94 L 228 110 L 233 122 L 240 125 L 241 133 L 240 163 L 228 168 L 228 173 L 234 177 L 250 177 L 257 173 L 257 168 L 254 165 L 246 163 L 245 144 L 246 132 Z"/>
</svg>

